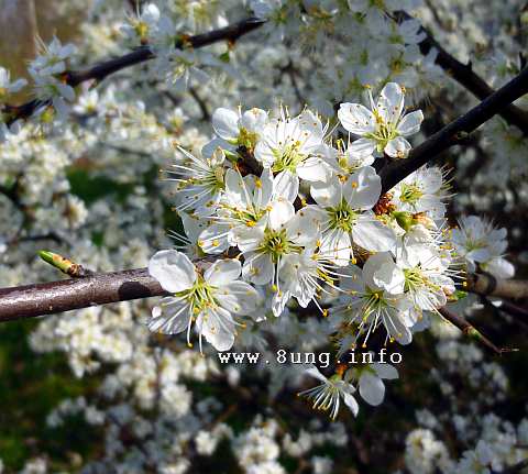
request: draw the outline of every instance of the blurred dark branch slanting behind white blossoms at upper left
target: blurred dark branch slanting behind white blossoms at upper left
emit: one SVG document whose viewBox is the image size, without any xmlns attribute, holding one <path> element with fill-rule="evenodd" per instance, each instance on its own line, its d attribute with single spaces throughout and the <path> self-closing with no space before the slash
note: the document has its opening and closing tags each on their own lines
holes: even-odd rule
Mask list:
<svg viewBox="0 0 528 474">
<path fill-rule="evenodd" d="M 182 35 L 175 43 L 176 48 L 184 47 L 204 47 L 209 46 L 210 44 L 218 43 L 220 41 L 234 42 L 239 37 L 243 36 L 246 33 L 252 32 L 262 24 L 265 23 L 265 20 L 257 18 L 249 18 L 242 20 L 238 23 L 233 23 L 226 27 L 219 30 L 210 31 L 209 33 L 197 34 L 195 36 L 185 36 Z M 66 82 L 76 87 L 81 82 L 88 80 L 95 80 L 100 82 L 106 77 L 111 74 L 118 73 L 127 67 L 134 66 L 136 64 L 144 63 L 148 59 L 154 58 L 155 55 L 148 46 L 141 46 L 134 49 L 131 53 L 128 53 L 123 56 L 117 57 L 114 59 L 109 59 L 103 63 L 97 64 L 95 66 L 88 67 L 81 70 L 70 70 L 64 74 Z M 23 103 L 22 106 L 4 106 L 4 111 L 10 115 L 8 124 L 13 123 L 20 119 L 28 119 L 33 114 L 33 112 L 46 106 L 47 102 L 42 100 L 31 100 L 30 102 Z"/>
</svg>

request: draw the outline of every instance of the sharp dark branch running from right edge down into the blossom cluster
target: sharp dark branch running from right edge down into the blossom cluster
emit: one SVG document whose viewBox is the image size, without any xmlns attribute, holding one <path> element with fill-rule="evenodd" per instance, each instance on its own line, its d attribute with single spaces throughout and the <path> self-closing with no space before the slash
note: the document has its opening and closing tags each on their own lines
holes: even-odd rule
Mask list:
<svg viewBox="0 0 528 474">
<path fill-rule="evenodd" d="M 382 192 L 387 192 L 420 166 L 424 166 L 450 146 L 466 139 L 471 132 L 525 93 L 528 93 L 528 68 L 526 67 L 517 77 L 493 92 L 479 106 L 413 148 L 407 158 L 394 161 L 385 166 L 380 173 L 383 184 Z"/>
</svg>

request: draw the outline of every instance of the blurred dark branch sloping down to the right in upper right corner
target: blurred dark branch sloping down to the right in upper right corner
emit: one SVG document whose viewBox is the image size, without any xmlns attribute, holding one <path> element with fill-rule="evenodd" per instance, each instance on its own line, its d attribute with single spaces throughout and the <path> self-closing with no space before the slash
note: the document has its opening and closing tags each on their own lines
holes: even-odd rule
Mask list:
<svg viewBox="0 0 528 474">
<path fill-rule="evenodd" d="M 397 22 L 414 19 L 408 13 L 399 11 L 394 14 Z M 431 35 L 431 33 L 424 26 L 419 30 L 426 34 L 426 37 L 418 44 L 421 54 L 425 56 L 432 49 L 438 51 L 436 64 L 438 64 L 450 77 L 457 82 L 472 92 L 475 97 L 484 100 L 491 96 L 495 90 L 479 75 L 475 74 L 473 67 L 470 64 L 463 64 L 451 54 L 449 54 Z M 528 136 L 528 112 L 519 109 L 513 103 L 506 106 L 499 115 L 503 117 L 509 124 L 516 125 L 519 130 Z"/>
</svg>

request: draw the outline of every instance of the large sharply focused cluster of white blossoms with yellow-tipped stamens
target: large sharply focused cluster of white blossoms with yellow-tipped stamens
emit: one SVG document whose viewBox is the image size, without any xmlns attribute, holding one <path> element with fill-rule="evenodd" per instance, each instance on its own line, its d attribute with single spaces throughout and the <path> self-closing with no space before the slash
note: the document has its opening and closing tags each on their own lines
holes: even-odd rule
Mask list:
<svg viewBox="0 0 528 474">
<path fill-rule="evenodd" d="M 446 172 L 422 167 L 382 195 L 374 167 L 405 159 L 405 136 L 419 131 L 424 115 L 405 113 L 398 84 L 385 85 L 376 101 L 367 96 L 369 108 L 340 106 L 342 129 L 307 108 L 298 115 L 285 107 L 276 114 L 219 108 L 216 136 L 201 153 L 178 148 L 167 181 L 183 231 L 174 233 L 176 249 L 148 264 L 170 294 L 154 308 L 152 331 L 186 332 L 193 345 L 194 327 L 200 351 L 202 338 L 227 351 L 258 326 L 263 307 L 280 317 L 311 305 L 328 317 L 339 356 L 366 348 L 378 328 L 386 342 L 408 344 L 427 327 L 424 315 L 438 316 L 457 299 L 463 262 L 451 240 L 468 245 L 447 224 Z M 397 373 L 366 374 L 355 376 L 360 394 L 377 405 L 381 379 Z M 336 417 L 344 397 L 358 411 L 352 370 L 312 375 L 324 381 L 307 393 L 315 406 Z"/>
</svg>

